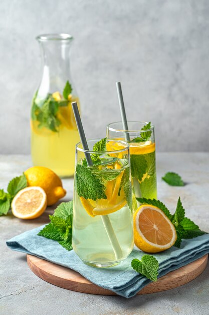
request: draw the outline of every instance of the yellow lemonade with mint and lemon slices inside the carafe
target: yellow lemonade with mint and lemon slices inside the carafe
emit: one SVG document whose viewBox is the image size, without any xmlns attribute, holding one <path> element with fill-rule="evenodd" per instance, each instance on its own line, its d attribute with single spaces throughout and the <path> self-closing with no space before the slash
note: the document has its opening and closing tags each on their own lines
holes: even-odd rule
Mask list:
<svg viewBox="0 0 209 315">
<path fill-rule="evenodd" d="M 61 177 L 73 176 L 75 147 L 80 141 L 71 102 L 59 92 L 44 99 L 35 95 L 31 117 L 31 152 L 34 166 L 44 166 Z"/>
</svg>

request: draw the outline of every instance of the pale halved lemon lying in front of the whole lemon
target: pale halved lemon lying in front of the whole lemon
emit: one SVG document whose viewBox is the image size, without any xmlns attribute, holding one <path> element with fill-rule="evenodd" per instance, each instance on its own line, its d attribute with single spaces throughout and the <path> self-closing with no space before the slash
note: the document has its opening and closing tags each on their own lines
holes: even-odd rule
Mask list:
<svg viewBox="0 0 209 315">
<path fill-rule="evenodd" d="M 35 219 L 47 207 L 47 195 L 41 187 L 26 187 L 19 191 L 12 202 L 12 212 L 20 219 Z"/>
</svg>

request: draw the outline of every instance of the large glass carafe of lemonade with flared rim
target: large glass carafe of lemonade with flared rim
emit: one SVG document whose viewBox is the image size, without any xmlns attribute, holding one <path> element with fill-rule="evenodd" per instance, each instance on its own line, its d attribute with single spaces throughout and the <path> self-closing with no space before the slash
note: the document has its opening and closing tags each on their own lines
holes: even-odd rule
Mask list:
<svg viewBox="0 0 209 315">
<path fill-rule="evenodd" d="M 71 102 L 79 99 L 70 74 L 69 34 L 36 38 L 43 62 L 41 83 L 31 112 L 31 154 L 34 166 L 44 166 L 61 177 L 72 176 L 79 134 Z"/>
</svg>

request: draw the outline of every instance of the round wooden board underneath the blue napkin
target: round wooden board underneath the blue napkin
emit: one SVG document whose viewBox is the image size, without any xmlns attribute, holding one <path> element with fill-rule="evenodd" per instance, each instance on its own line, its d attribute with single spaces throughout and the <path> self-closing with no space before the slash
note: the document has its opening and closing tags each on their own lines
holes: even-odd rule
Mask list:
<svg viewBox="0 0 209 315">
<path fill-rule="evenodd" d="M 140 290 L 137 294 L 148 294 L 169 290 L 181 286 L 198 277 L 206 267 L 207 257 L 205 255 L 196 261 L 181 267 L 167 275 L 159 278 Z M 69 268 L 50 263 L 44 259 L 27 255 L 30 269 L 41 279 L 64 289 L 99 295 L 117 295 L 116 293 L 103 289 L 84 278 L 78 272 Z"/>
</svg>

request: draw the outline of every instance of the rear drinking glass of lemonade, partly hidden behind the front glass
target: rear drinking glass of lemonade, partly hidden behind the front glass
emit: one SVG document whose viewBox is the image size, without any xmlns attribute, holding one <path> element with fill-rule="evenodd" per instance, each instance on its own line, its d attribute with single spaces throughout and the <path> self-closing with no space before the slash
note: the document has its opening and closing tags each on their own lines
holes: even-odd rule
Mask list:
<svg viewBox="0 0 209 315">
<path fill-rule="evenodd" d="M 129 135 L 130 164 L 133 192 L 133 210 L 140 203 L 135 197 L 157 199 L 154 126 L 151 123 L 128 121 L 124 130 L 122 122 L 107 126 L 107 137 L 124 140 Z"/>
</svg>

